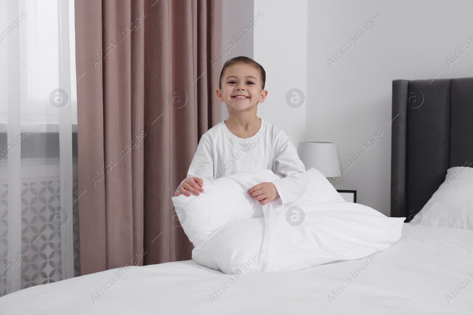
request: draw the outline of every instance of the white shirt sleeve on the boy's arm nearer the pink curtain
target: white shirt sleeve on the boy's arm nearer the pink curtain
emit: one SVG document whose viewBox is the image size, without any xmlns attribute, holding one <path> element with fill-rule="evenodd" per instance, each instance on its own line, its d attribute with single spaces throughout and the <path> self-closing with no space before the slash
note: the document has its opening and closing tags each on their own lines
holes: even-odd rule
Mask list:
<svg viewBox="0 0 473 315">
<path fill-rule="evenodd" d="M 203 180 L 213 179 L 213 148 L 208 138 L 204 135 L 201 136 L 201 140 L 197 145 L 197 150 L 187 171 L 187 177 L 177 186 L 176 191 L 184 183 L 184 180 L 190 177 L 198 177 Z"/>
</svg>

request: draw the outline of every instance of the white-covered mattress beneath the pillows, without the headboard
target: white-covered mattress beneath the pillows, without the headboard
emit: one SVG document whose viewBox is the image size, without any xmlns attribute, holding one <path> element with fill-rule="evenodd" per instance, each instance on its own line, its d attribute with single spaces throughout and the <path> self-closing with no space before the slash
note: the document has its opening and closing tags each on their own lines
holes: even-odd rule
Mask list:
<svg viewBox="0 0 473 315">
<path fill-rule="evenodd" d="M 473 314 L 473 282 L 456 289 L 473 281 L 473 231 L 404 224 L 400 240 L 355 278 L 365 261 L 238 279 L 193 260 L 134 266 L 121 278 L 113 269 L 8 294 L 0 314 Z M 94 303 L 91 296 L 111 278 L 116 283 Z M 229 278 L 236 280 L 212 303 L 210 294 Z M 347 278 L 353 282 L 333 295 Z"/>
</svg>

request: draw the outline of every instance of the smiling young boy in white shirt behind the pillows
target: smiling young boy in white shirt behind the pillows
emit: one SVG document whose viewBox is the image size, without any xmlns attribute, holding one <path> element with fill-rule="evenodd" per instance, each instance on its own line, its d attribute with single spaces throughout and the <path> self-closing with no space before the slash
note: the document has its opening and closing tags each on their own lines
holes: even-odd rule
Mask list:
<svg viewBox="0 0 473 315">
<path fill-rule="evenodd" d="M 175 196 L 203 193 L 203 180 L 218 179 L 251 170 L 272 170 L 280 180 L 263 182 L 248 189 L 254 200 L 264 205 L 296 201 L 309 184 L 306 168 L 296 148 L 280 128 L 256 116 L 264 102 L 266 72 L 251 58 L 227 60 L 216 90 L 225 102 L 229 117 L 202 135 L 187 172 Z"/>
</svg>

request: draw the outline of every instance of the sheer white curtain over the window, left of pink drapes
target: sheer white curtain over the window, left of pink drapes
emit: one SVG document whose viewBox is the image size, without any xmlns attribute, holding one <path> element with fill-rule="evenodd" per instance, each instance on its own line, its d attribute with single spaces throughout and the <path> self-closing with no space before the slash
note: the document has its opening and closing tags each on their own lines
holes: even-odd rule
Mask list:
<svg viewBox="0 0 473 315">
<path fill-rule="evenodd" d="M 0 0 L 0 80 L 1 296 L 80 273 L 73 0 Z"/>
</svg>

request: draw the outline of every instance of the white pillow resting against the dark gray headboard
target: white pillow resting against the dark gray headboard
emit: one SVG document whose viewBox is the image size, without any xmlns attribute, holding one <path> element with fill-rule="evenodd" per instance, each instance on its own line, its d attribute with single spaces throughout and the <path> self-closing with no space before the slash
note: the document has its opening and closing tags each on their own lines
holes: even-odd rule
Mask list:
<svg viewBox="0 0 473 315">
<path fill-rule="evenodd" d="M 473 168 L 451 167 L 411 224 L 473 230 Z"/>
</svg>

